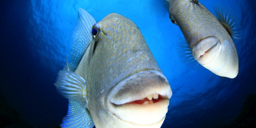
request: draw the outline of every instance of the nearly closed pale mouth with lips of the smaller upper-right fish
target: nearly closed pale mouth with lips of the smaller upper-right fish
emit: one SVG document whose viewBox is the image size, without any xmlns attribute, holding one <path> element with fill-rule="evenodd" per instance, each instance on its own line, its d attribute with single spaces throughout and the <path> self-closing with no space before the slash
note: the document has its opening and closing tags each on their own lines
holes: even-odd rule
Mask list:
<svg viewBox="0 0 256 128">
<path fill-rule="evenodd" d="M 208 36 L 200 40 L 192 49 L 192 55 L 202 66 L 214 60 L 221 50 L 220 40 L 215 36 Z"/>
</svg>

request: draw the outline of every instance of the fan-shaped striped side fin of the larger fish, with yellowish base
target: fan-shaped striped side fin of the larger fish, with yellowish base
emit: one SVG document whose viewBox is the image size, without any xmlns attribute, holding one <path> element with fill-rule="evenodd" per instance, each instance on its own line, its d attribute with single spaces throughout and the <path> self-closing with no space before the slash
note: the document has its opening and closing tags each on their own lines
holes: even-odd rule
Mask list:
<svg viewBox="0 0 256 128">
<path fill-rule="evenodd" d="M 86 108 L 86 85 L 81 76 L 68 70 L 60 70 L 54 85 L 63 97 L 76 101 L 82 108 Z"/>
</svg>

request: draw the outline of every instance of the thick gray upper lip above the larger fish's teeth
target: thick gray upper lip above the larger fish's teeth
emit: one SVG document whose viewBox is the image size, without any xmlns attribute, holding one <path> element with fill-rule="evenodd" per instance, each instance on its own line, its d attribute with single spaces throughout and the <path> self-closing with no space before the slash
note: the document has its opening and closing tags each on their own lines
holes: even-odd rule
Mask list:
<svg viewBox="0 0 256 128">
<path fill-rule="evenodd" d="M 158 90 L 150 90 L 148 92 L 145 92 L 145 94 L 141 94 L 142 91 L 138 90 L 138 88 L 141 89 L 140 87 L 137 86 L 138 88 L 134 89 L 134 88 L 130 88 L 130 86 L 128 86 L 130 84 L 133 84 L 133 83 L 128 83 L 131 80 L 133 80 L 133 81 L 142 80 L 142 79 L 144 80 L 145 78 L 142 78 L 142 76 L 148 76 L 148 78 L 157 77 L 157 78 L 155 78 L 155 80 L 159 80 L 159 82 L 164 83 L 162 87 L 164 87 L 167 90 L 159 91 L 160 88 L 158 87 Z M 150 81 L 153 82 L 153 80 L 150 80 Z M 157 82 L 154 81 L 154 84 L 156 84 L 156 83 Z M 136 83 L 136 84 L 144 84 L 144 83 Z M 128 88 L 124 88 L 126 86 L 128 86 Z M 136 85 L 133 85 L 133 86 L 136 87 Z M 147 86 L 146 88 L 152 88 L 152 86 L 153 85 Z M 132 90 L 132 89 L 134 89 L 134 90 Z M 130 97 L 128 99 L 124 99 L 126 92 L 130 91 L 130 90 L 133 91 L 135 97 Z M 146 89 L 144 89 L 143 91 L 145 91 L 145 90 Z M 118 92 L 118 94 L 116 92 Z M 160 94 L 162 99 L 164 99 L 164 98 L 170 99 L 170 97 L 172 95 L 172 90 L 170 89 L 170 84 L 168 83 L 167 78 L 161 72 L 158 72 L 155 70 L 147 70 L 147 71 L 138 72 L 136 74 L 128 76 L 127 78 L 125 78 L 123 80 L 120 80 L 120 82 L 118 82 L 118 84 L 116 84 L 116 86 L 114 86 L 114 88 L 112 88 L 108 92 L 108 100 L 110 102 L 112 102 L 113 104 L 121 105 L 121 104 L 126 104 L 129 102 L 135 101 L 135 100 L 140 100 L 142 98 L 145 98 L 145 96 L 148 96 L 150 94 L 155 94 L 155 93 Z M 137 94 L 139 94 L 139 96 Z M 114 100 L 113 98 L 116 100 Z"/>
</svg>

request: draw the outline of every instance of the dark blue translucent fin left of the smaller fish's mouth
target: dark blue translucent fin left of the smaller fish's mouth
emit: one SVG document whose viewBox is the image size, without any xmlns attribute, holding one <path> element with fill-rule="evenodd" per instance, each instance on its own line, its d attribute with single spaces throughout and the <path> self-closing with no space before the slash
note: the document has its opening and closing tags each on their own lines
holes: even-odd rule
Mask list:
<svg viewBox="0 0 256 128">
<path fill-rule="evenodd" d="M 188 67 L 193 68 L 194 70 L 201 70 L 203 68 L 203 66 L 194 59 L 185 39 L 178 40 L 176 51 L 180 60 Z"/>
</svg>

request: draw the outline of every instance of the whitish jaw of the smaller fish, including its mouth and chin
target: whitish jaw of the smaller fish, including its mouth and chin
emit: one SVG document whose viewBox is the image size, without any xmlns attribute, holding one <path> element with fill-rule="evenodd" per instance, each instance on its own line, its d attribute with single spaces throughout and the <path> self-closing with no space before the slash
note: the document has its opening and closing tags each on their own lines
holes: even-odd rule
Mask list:
<svg viewBox="0 0 256 128">
<path fill-rule="evenodd" d="M 192 54 L 198 63 L 218 76 L 235 78 L 238 74 L 238 54 L 232 40 L 221 42 L 209 36 L 192 47 Z"/>
</svg>

